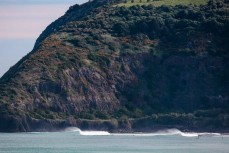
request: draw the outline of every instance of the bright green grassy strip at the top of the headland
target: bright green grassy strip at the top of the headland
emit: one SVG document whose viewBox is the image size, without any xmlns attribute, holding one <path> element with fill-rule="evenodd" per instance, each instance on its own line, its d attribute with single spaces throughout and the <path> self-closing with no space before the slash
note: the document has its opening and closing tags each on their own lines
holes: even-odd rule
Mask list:
<svg viewBox="0 0 229 153">
<path fill-rule="evenodd" d="M 156 7 L 162 6 L 162 5 L 170 5 L 170 6 L 176 6 L 176 5 L 206 5 L 208 0 L 157 0 L 150 2 L 147 2 L 147 0 L 135 0 L 134 3 L 131 3 L 131 0 L 128 0 L 127 3 L 120 3 L 119 6 L 133 6 L 133 5 L 153 5 Z"/>
</svg>

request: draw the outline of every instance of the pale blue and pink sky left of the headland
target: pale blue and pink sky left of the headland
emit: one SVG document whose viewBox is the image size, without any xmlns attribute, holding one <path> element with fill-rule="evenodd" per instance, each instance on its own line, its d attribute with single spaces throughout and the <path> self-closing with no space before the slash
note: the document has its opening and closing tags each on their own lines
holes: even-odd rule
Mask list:
<svg viewBox="0 0 229 153">
<path fill-rule="evenodd" d="M 0 77 L 28 54 L 45 28 L 88 0 L 0 0 Z"/>
</svg>

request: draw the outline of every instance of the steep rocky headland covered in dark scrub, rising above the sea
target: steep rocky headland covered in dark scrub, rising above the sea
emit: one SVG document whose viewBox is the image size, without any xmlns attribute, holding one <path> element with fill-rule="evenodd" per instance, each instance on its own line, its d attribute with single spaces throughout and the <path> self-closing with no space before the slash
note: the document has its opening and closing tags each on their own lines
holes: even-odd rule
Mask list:
<svg viewBox="0 0 229 153">
<path fill-rule="evenodd" d="M 47 27 L 0 79 L 0 131 L 228 130 L 228 2 L 118 3 Z"/>
</svg>

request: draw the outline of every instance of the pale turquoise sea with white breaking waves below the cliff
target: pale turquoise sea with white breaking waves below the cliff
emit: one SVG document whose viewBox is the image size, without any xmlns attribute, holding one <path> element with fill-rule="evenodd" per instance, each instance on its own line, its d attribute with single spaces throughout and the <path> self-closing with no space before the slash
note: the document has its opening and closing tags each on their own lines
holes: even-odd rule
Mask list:
<svg viewBox="0 0 229 153">
<path fill-rule="evenodd" d="M 217 133 L 110 134 L 63 132 L 0 133 L 0 153 L 229 153 L 229 136 Z"/>
</svg>

